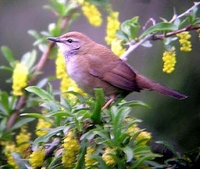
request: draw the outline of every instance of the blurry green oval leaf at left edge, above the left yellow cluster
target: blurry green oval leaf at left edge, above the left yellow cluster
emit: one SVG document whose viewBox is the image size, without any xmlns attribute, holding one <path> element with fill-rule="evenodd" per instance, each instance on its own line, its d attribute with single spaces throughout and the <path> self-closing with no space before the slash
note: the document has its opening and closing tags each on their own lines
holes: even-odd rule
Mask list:
<svg viewBox="0 0 200 169">
<path fill-rule="evenodd" d="M 2 46 L 1 52 L 2 52 L 3 56 L 5 57 L 5 59 L 8 61 L 8 63 L 10 64 L 10 66 L 14 67 L 15 59 L 14 59 L 14 55 L 13 55 L 12 51 L 10 50 L 10 48 L 8 48 L 7 46 Z"/>
</svg>

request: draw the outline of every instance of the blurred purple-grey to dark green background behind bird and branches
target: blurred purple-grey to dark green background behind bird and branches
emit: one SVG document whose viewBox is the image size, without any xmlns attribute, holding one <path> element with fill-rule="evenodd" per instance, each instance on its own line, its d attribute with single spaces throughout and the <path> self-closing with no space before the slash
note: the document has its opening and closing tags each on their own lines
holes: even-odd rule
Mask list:
<svg viewBox="0 0 200 169">
<path fill-rule="evenodd" d="M 121 22 L 139 16 L 141 26 L 144 26 L 149 18 L 171 19 L 174 10 L 180 14 L 193 5 L 192 0 L 112 0 L 111 2 L 114 10 L 120 12 Z M 0 46 L 9 46 L 16 58 L 21 58 L 24 53 L 32 50 L 34 39 L 27 31 L 46 30 L 49 23 L 56 21 L 53 13 L 43 9 L 43 5 L 48 3 L 48 0 L 1 0 Z M 70 30 L 83 32 L 105 45 L 105 29 L 106 15 L 103 26 L 99 28 L 92 27 L 86 18 L 81 16 Z M 188 99 L 179 101 L 154 92 L 143 91 L 133 93 L 127 98 L 139 99 L 151 106 L 150 109 L 133 109 L 133 115 L 143 120 L 143 127 L 152 132 L 155 140 L 169 141 L 179 151 L 200 146 L 200 43 L 197 33 L 191 32 L 191 34 L 194 35 L 192 52 L 179 52 L 178 44 L 174 44 L 177 49 L 177 65 L 172 74 L 162 72 L 164 51 L 162 41 L 153 42 L 153 48 L 139 47 L 129 56 L 129 63 L 141 74 L 189 96 Z M 0 63 L 8 64 L 1 53 Z M 42 76 L 53 74 L 54 63 L 50 60 Z M 10 78 L 11 74 L 0 70 L 0 75 L 0 90 L 10 91 L 11 86 L 6 83 L 6 79 Z M 54 88 L 58 88 L 58 84 L 53 85 Z"/>
</svg>

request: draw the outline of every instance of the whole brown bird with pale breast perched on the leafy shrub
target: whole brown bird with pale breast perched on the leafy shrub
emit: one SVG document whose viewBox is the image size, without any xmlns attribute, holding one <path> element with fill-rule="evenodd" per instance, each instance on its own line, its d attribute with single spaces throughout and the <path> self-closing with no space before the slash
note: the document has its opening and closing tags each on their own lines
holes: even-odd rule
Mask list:
<svg viewBox="0 0 200 169">
<path fill-rule="evenodd" d="M 142 76 L 107 47 L 98 44 L 80 32 L 69 32 L 60 37 L 48 38 L 59 46 L 65 57 L 67 72 L 86 93 L 93 95 L 102 88 L 109 100 L 107 108 L 117 97 L 143 89 L 185 99 L 187 96 L 164 87 Z"/>
</svg>

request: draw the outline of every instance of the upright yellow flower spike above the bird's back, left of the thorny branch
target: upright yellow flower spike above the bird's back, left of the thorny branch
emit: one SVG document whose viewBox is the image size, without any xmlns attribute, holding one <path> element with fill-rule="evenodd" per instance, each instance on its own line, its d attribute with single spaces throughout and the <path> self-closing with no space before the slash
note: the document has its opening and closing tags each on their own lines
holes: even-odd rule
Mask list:
<svg viewBox="0 0 200 169">
<path fill-rule="evenodd" d="M 118 20 L 119 12 L 111 12 L 107 17 L 107 28 L 105 41 L 108 45 L 116 39 L 116 31 L 119 30 L 120 22 Z"/>
</svg>

